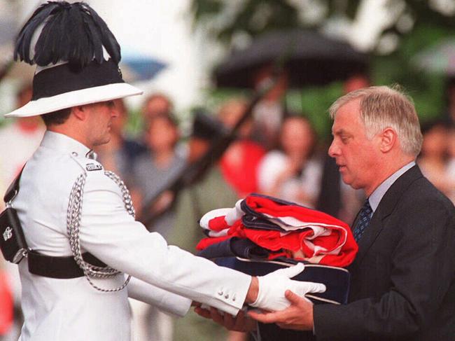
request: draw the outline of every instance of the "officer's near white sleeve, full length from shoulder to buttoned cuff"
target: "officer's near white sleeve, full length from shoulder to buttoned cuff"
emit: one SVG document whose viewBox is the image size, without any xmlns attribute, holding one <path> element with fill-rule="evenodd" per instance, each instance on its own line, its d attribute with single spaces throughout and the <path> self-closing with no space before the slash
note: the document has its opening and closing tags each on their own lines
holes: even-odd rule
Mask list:
<svg viewBox="0 0 455 341">
<path fill-rule="evenodd" d="M 218 267 L 176 246 L 127 214 L 116 183 L 89 172 L 83 194 L 80 245 L 109 266 L 166 291 L 236 315 L 251 277 Z"/>
</svg>

